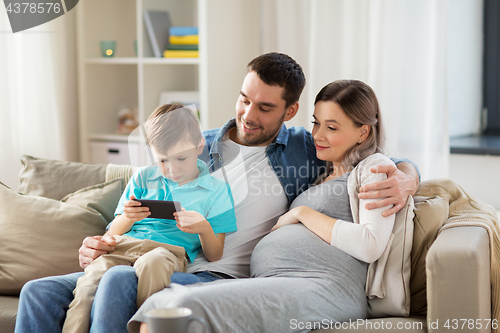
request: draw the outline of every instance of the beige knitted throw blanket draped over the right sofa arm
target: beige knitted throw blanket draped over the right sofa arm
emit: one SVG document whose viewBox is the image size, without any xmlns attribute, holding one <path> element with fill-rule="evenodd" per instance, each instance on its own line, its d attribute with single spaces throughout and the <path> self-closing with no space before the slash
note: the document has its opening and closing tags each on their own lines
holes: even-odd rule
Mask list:
<svg viewBox="0 0 500 333">
<path fill-rule="evenodd" d="M 500 229 L 497 211 L 465 192 L 449 179 L 426 181 L 420 185 L 419 196 L 439 196 L 450 203 L 448 220 L 441 230 L 460 226 L 486 229 L 491 251 L 491 312 L 500 321 Z M 439 232 L 441 232 L 441 230 Z M 492 332 L 499 332 L 498 329 Z"/>
</svg>

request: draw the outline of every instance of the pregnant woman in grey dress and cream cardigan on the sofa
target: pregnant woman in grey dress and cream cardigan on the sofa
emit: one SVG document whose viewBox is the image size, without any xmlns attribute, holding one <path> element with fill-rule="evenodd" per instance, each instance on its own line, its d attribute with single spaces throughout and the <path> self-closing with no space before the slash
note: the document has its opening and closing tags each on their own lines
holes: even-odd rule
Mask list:
<svg viewBox="0 0 500 333">
<path fill-rule="evenodd" d="M 363 186 L 387 177 L 370 172 L 392 163 L 381 154 L 378 101 L 363 82 L 335 81 L 316 96 L 313 118 L 316 154 L 329 162 L 327 172 L 257 244 L 253 278 L 172 285 L 141 307 L 129 324 L 132 331 L 151 308 L 175 306 L 191 308 L 221 333 L 307 332 L 366 318 L 367 267 L 386 249 L 395 217 L 382 215 L 388 207 L 366 210 L 373 200 L 351 197 L 348 182 Z M 353 201 L 359 211 L 351 209 Z"/>
</svg>

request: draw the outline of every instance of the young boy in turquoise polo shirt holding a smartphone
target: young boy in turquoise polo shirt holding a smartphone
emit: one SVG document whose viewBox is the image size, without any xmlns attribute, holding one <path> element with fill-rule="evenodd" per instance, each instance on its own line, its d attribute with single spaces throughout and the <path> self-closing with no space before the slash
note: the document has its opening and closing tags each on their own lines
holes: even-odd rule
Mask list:
<svg viewBox="0 0 500 333">
<path fill-rule="evenodd" d="M 115 251 L 92 262 L 78 279 L 63 333 L 89 331 L 92 301 L 109 268 L 134 266 L 139 307 L 170 284 L 174 271 L 185 272 L 200 248 L 209 261 L 219 260 L 225 233 L 236 231 L 229 186 L 198 159 L 205 139 L 194 112 L 177 103 L 160 106 L 146 122 L 146 138 L 157 166 L 139 169 L 127 184 L 107 232 L 118 243 Z M 179 201 L 183 208 L 175 220 L 148 218 L 149 209 L 136 198 Z"/>
</svg>

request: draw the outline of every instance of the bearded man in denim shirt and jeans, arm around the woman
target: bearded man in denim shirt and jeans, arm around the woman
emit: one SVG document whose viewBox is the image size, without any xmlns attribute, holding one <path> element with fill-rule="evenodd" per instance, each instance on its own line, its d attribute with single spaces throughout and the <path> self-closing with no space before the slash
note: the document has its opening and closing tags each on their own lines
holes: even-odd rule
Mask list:
<svg viewBox="0 0 500 333">
<path fill-rule="evenodd" d="M 204 133 L 206 160 L 216 176 L 231 187 L 238 231 L 226 235 L 223 257 L 208 262 L 200 255 L 188 273 L 174 273 L 172 282 L 190 284 L 221 278 L 249 277 L 250 256 L 257 242 L 288 210 L 293 199 L 306 190 L 323 171 L 312 136 L 304 128 L 287 129 L 284 122 L 299 109 L 305 86 L 301 67 L 289 56 L 268 53 L 252 60 L 236 103 L 236 117 L 221 129 Z M 385 198 L 368 209 L 394 207 L 394 214 L 419 186 L 418 173 L 410 163 L 387 166 L 377 172 L 388 179 L 361 189 L 361 199 Z M 98 256 L 113 251 L 110 235 L 88 237 L 80 248 L 85 268 Z M 16 332 L 58 332 L 71 302 L 76 280 L 82 273 L 51 277 L 28 283 L 21 292 Z M 113 281 L 120 281 L 114 283 Z M 134 269 L 118 266 L 101 280 L 92 311 L 91 332 L 127 332 L 126 323 L 137 310 L 137 278 Z"/>
</svg>

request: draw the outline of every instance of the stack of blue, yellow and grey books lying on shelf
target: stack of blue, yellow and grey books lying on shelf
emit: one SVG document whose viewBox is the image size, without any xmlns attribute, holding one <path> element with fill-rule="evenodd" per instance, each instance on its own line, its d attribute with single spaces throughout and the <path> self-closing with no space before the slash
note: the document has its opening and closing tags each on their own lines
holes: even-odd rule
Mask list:
<svg viewBox="0 0 500 333">
<path fill-rule="evenodd" d="M 165 58 L 198 58 L 198 28 L 170 27 Z"/>
</svg>

